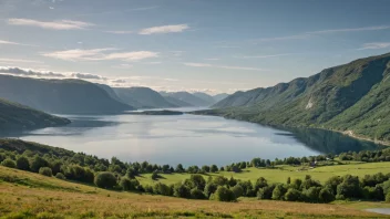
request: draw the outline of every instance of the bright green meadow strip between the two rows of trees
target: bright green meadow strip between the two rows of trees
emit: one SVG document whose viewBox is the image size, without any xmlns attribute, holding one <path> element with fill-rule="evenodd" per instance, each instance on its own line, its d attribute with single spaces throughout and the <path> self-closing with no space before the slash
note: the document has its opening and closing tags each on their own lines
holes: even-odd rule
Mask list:
<svg viewBox="0 0 390 219">
<path fill-rule="evenodd" d="M 332 176 L 343 176 L 347 174 L 363 177 L 365 175 L 373 175 L 377 173 L 390 173 L 390 163 L 351 163 L 345 165 L 335 165 L 335 166 L 324 166 L 317 167 L 314 169 L 301 170 L 301 167 L 291 167 L 291 166 L 279 166 L 276 169 L 267 168 L 247 168 L 242 173 L 232 173 L 232 171 L 220 171 L 217 174 L 207 174 L 207 176 L 225 176 L 234 177 L 235 179 L 242 180 L 252 180 L 255 181 L 259 177 L 266 178 L 269 182 L 286 182 L 288 177 L 294 178 L 305 178 L 306 175 L 311 175 L 316 180 L 325 182 Z M 189 174 L 161 174 L 162 178 L 158 181 L 163 184 L 175 184 L 184 179 L 189 178 Z M 152 180 L 151 174 L 142 175 L 137 178 L 141 184 L 154 184 L 156 181 Z"/>
</svg>

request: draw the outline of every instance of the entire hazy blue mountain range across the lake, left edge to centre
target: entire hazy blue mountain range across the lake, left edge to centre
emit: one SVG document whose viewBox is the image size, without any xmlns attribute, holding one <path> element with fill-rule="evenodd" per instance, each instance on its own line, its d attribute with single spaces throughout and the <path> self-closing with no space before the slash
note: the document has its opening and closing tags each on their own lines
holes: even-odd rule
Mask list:
<svg viewBox="0 0 390 219">
<path fill-rule="evenodd" d="M 82 80 L 43 80 L 0 74 L 0 98 L 54 114 L 116 114 L 136 108 L 211 106 L 205 93 L 158 93 L 148 87 L 111 87 Z"/>
</svg>

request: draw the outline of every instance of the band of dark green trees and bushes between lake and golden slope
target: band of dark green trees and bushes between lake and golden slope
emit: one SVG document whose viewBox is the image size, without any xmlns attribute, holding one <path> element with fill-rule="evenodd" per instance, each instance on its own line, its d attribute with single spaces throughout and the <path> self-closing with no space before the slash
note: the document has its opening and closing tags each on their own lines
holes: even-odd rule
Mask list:
<svg viewBox="0 0 390 219">
<path fill-rule="evenodd" d="M 377 152 L 345 153 L 340 159 L 348 160 L 381 160 L 387 159 L 390 149 Z M 286 184 L 269 184 L 265 178 L 258 178 L 254 184 L 250 180 L 237 180 L 222 176 L 208 177 L 206 180 L 201 174 L 220 170 L 239 171 L 247 167 L 267 167 L 280 164 L 299 165 L 318 160 L 333 159 L 333 156 L 314 156 L 302 158 L 276 159 L 274 161 L 254 158 L 252 161 L 232 164 L 218 168 L 211 166 L 189 166 L 184 168 L 177 165 L 152 165 L 144 163 L 123 163 L 113 157 L 111 160 L 83 153 L 42 146 L 22 140 L 0 140 L 0 163 L 2 166 L 21 170 L 39 173 L 44 176 L 55 176 L 59 179 L 69 179 L 86 184 L 94 184 L 100 188 L 115 190 L 132 190 L 163 196 L 174 196 L 192 199 L 215 199 L 234 201 L 238 197 L 258 197 L 287 201 L 329 202 L 335 199 L 370 199 L 390 201 L 390 174 L 367 175 L 363 178 L 356 176 L 332 177 L 324 185 L 307 176 L 305 179 L 287 179 Z M 156 182 L 153 186 L 141 185 L 136 176 L 152 173 L 152 179 L 157 180 L 160 174 L 189 173 L 189 179 L 175 185 Z"/>
</svg>

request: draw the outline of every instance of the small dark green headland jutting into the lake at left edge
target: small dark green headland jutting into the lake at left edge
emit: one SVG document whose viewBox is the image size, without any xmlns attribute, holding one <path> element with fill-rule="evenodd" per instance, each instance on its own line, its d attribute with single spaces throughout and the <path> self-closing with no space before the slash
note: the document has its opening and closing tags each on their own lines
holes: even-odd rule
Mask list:
<svg viewBox="0 0 390 219">
<path fill-rule="evenodd" d="M 41 128 L 66 125 L 70 121 L 0 98 L 0 129 Z"/>
</svg>

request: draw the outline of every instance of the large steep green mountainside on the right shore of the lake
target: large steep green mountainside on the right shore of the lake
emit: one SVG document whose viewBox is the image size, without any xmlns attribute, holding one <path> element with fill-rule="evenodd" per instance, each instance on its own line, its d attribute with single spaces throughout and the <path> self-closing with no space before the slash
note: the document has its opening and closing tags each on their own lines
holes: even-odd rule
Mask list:
<svg viewBox="0 0 390 219">
<path fill-rule="evenodd" d="M 269 125 L 319 127 L 390 142 L 390 53 L 267 88 L 237 92 L 214 113 Z"/>
</svg>

